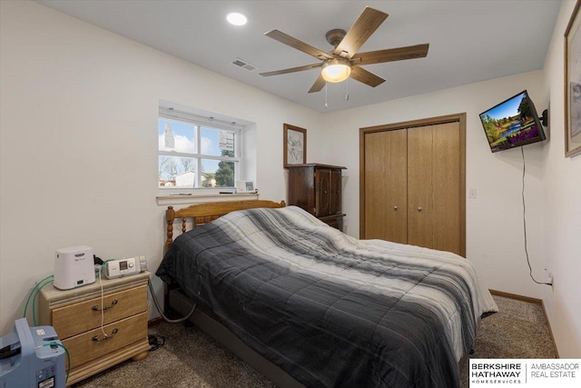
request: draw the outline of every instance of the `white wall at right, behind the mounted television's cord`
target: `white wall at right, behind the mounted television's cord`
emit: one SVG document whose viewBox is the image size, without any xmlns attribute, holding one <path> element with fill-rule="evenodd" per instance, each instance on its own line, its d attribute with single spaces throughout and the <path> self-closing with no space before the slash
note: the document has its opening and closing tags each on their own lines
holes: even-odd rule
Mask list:
<svg viewBox="0 0 581 388">
<path fill-rule="evenodd" d="M 545 254 L 555 276 L 543 300 L 563 358 L 581 358 L 581 155 L 565 157 L 564 35 L 574 1 L 561 5 L 545 64 L 553 135 L 544 150 Z"/>
</svg>

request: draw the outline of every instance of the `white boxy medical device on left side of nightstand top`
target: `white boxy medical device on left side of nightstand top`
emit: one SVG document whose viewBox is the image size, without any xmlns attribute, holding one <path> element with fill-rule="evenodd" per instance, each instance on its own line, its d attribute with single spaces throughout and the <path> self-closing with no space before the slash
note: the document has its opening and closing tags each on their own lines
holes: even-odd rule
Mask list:
<svg viewBox="0 0 581 388">
<path fill-rule="evenodd" d="M 70 290 L 94 280 L 93 248 L 81 245 L 54 252 L 54 287 Z"/>
</svg>

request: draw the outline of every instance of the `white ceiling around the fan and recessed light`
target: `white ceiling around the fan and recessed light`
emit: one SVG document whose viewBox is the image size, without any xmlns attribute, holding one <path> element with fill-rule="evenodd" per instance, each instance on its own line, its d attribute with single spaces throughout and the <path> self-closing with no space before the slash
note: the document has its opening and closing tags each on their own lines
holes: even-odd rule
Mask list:
<svg viewBox="0 0 581 388">
<path fill-rule="evenodd" d="M 320 112 L 541 69 L 561 5 L 556 0 L 37 2 Z M 328 85 L 328 108 L 325 89 L 307 93 L 319 69 L 259 75 L 317 63 L 264 33 L 278 29 L 328 52 L 325 33 L 349 30 L 366 5 L 389 17 L 359 52 L 429 43 L 428 56 L 365 66 L 387 80 L 375 88 L 354 80 Z M 248 24 L 229 25 L 225 16 L 231 11 L 246 15 Z M 235 58 L 258 69 L 231 65 Z"/>
</svg>

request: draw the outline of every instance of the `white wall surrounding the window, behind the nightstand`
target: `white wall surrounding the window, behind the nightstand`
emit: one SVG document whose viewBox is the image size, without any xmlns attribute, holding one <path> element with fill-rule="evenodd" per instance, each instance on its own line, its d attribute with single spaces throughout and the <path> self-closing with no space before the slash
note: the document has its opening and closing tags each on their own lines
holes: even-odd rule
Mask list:
<svg viewBox="0 0 581 388">
<path fill-rule="evenodd" d="M 57 248 L 145 254 L 157 268 L 160 99 L 256 123 L 261 198 L 286 198 L 282 124 L 311 134 L 320 114 L 42 5 L 0 6 L 0 335 Z"/>
</svg>

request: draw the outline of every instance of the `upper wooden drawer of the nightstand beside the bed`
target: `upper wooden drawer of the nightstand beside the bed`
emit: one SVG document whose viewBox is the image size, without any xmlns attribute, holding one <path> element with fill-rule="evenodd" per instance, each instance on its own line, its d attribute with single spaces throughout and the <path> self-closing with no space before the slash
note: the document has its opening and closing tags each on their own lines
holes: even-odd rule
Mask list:
<svg viewBox="0 0 581 388">
<path fill-rule="evenodd" d="M 103 298 L 103 324 L 147 311 L 147 286 L 139 286 Z M 53 310 L 52 325 L 61 340 L 101 327 L 101 297 Z M 145 323 L 147 327 L 147 323 Z M 103 333 L 101 333 L 103 335 Z"/>
</svg>

